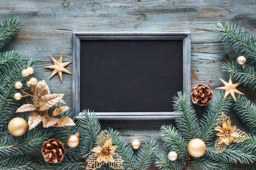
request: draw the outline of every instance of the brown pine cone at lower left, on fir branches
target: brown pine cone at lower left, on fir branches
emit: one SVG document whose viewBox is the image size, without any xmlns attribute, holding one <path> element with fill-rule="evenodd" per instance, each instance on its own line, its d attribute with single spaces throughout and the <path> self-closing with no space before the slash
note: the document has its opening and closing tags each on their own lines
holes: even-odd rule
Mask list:
<svg viewBox="0 0 256 170">
<path fill-rule="evenodd" d="M 66 149 L 61 141 L 50 139 L 49 141 L 45 141 L 43 143 L 41 152 L 45 161 L 49 163 L 57 163 L 62 161 L 66 153 Z"/>
</svg>

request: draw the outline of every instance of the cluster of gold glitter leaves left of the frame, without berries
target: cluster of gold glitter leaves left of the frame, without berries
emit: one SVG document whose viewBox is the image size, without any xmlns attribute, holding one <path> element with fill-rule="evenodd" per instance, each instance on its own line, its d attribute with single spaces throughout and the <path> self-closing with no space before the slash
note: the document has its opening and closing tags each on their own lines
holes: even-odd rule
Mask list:
<svg viewBox="0 0 256 170">
<path fill-rule="evenodd" d="M 36 86 L 30 86 L 33 95 L 29 95 L 33 98 L 34 104 L 24 104 L 16 110 L 16 113 L 28 112 L 37 110 L 38 113 L 31 113 L 29 115 L 28 125 L 29 130 L 36 127 L 40 122 L 43 121 L 43 127 L 48 128 L 50 126 L 62 127 L 62 126 L 75 126 L 75 123 L 69 117 L 56 117 L 61 113 L 66 112 L 70 109 L 67 106 L 57 106 L 54 111 L 50 112 L 50 108 L 56 105 L 58 102 L 65 104 L 62 99 L 64 94 L 51 94 L 49 87 L 45 81 L 40 81 Z M 23 93 L 25 93 L 23 91 Z M 51 116 L 51 117 L 50 117 Z"/>
</svg>

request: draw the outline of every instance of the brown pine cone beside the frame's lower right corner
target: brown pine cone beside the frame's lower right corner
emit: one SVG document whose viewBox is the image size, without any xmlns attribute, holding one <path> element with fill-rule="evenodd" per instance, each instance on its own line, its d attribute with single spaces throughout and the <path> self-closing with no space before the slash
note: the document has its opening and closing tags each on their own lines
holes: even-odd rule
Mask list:
<svg viewBox="0 0 256 170">
<path fill-rule="evenodd" d="M 191 90 L 192 102 L 198 104 L 199 106 L 206 106 L 213 97 L 213 93 L 209 87 L 203 84 L 198 84 Z"/>
</svg>

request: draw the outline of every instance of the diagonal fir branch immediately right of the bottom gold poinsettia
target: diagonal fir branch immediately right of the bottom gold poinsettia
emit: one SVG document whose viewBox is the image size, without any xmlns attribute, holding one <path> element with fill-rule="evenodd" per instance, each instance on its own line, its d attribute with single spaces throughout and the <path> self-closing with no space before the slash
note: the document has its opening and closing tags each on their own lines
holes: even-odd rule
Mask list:
<svg viewBox="0 0 256 170">
<path fill-rule="evenodd" d="M 114 131 L 112 128 L 109 128 L 104 132 L 110 135 L 113 144 L 117 146 L 118 155 L 120 155 L 122 159 L 124 159 L 124 168 L 126 168 L 127 170 L 137 170 L 137 160 L 133 155 L 133 149 L 130 145 L 128 145 L 128 142 L 124 139 L 124 137 L 121 136 L 117 130 Z"/>
</svg>

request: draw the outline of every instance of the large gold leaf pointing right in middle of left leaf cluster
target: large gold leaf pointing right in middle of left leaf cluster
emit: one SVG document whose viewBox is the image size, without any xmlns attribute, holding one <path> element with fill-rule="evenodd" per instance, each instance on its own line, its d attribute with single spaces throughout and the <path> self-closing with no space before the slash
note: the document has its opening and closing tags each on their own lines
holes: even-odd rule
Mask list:
<svg viewBox="0 0 256 170">
<path fill-rule="evenodd" d="M 52 95 L 44 95 L 40 97 L 39 99 L 39 110 L 48 110 L 52 106 L 54 106 L 56 103 L 61 102 L 64 103 L 62 97 L 64 94 L 52 94 Z"/>
</svg>

